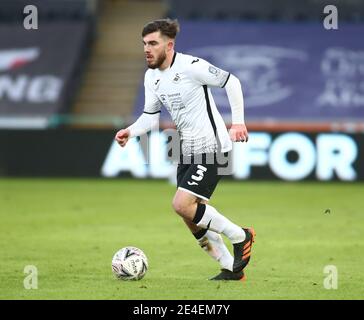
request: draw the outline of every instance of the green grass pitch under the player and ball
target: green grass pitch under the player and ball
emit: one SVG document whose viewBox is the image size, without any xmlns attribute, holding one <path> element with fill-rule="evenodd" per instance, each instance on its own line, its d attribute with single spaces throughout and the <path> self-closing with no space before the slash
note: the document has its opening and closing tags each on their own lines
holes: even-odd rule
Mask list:
<svg viewBox="0 0 364 320">
<path fill-rule="evenodd" d="M 0 299 L 364 298 L 363 184 L 222 181 L 211 204 L 257 232 L 246 282 L 207 280 L 219 266 L 173 213 L 174 192 L 165 181 L 1 179 Z M 140 281 L 113 278 L 127 245 L 148 256 Z M 27 265 L 38 289 L 24 288 Z M 324 287 L 327 265 L 337 289 Z"/>
</svg>

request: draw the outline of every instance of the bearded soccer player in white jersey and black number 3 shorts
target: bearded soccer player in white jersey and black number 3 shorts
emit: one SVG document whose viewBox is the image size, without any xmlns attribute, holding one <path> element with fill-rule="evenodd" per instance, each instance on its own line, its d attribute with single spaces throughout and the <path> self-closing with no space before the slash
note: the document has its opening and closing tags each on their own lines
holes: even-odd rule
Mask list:
<svg viewBox="0 0 364 320">
<path fill-rule="evenodd" d="M 248 141 L 241 84 L 233 74 L 201 58 L 176 52 L 178 32 L 177 20 L 161 19 L 144 26 L 142 38 L 149 68 L 144 79 L 144 112 L 131 126 L 118 131 L 115 140 L 124 147 L 130 138 L 156 129 L 161 107 L 168 110 L 182 153 L 173 208 L 199 245 L 220 263 L 221 272 L 211 280 L 243 280 L 255 232 L 239 227 L 208 204 L 221 178 L 219 169 L 226 165 L 219 159 L 232 150 L 232 141 Z M 229 132 L 209 87 L 226 90 L 232 112 Z M 234 257 L 221 234 L 232 243 Z"/>
</svg>

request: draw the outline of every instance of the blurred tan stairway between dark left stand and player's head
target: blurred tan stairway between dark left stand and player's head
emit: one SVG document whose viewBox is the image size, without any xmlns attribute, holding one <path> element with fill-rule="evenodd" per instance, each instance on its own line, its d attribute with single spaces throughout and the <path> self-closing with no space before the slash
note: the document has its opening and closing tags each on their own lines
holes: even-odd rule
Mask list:
<svg viewBox="0 0 364 320">
<path fill-rule="evenodd" d="M 76 117 L 117 120 L 132 114 L 145 69 L 141 28 L 165 10 L 160 1 L 100 2 L 98 34 L 73 109 Z"/>
</svg>

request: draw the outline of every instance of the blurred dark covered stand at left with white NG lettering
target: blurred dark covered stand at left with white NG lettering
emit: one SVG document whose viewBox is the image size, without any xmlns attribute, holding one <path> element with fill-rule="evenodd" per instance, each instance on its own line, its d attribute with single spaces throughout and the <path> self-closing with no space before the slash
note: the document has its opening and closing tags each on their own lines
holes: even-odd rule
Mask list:
<svg viewBox="0 0 364 320">
<path fill-rule="evenodd" d="M 25 26 L 28 4 L 0 7 L 1 127 L 45 127 L 69 112 L 95 33 L 95 0 L 32 1 L 35 29 Z"/>
</svg>

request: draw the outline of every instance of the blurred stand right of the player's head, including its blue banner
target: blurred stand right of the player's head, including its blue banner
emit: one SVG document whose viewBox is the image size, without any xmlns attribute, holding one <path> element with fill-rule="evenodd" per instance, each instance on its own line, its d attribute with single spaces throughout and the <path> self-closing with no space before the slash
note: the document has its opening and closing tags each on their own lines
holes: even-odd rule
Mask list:
<svg viewBox="0 0 364 320">
<path fill-rule="evenodd" d="M 251 129 L 364 130 L 362 1 L 330 2 L 339 12 L 336 33 L 323 26 L 327 2 L 321 0 L 168 3 L 168 16 L 182 23 L 177 50 L 240 78 Z M 229 123 L 224 91 L 216 90 L 215 98 Z M 141 88 L 135 116 L 143 99 Z"/>
</svg>

